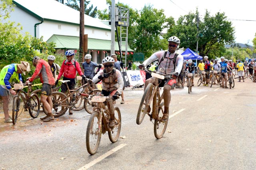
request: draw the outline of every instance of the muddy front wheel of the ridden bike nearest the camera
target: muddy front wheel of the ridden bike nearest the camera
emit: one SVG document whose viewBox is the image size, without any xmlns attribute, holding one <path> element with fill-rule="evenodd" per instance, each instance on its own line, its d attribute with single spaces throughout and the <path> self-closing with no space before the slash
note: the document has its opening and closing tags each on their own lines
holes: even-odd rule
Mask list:
<svg viewBox="0 0 256 170">
<path fill-rule="evenodd" d="M 101 122 L 98 111 L 92 113 L 87 128 L 86 128 L 86 149 L 89 154 L 95 154 L 100 145 L 101 128 L 99 128 L 99 122 Z"/>
</svg>

